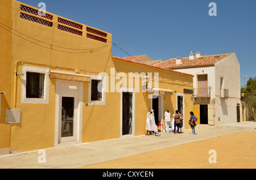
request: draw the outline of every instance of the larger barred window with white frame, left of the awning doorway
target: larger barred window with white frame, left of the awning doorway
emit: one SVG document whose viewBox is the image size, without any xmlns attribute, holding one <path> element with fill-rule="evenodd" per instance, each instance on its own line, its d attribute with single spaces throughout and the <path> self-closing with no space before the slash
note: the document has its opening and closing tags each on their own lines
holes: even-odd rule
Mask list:
<svg viewBox="0 0 256 180">
<path fill-rule="evenodd" d="M 22 74 L 21 102 L 27 104 L 48 104 L 48 69 L 22 66 Z"/>
</svg>

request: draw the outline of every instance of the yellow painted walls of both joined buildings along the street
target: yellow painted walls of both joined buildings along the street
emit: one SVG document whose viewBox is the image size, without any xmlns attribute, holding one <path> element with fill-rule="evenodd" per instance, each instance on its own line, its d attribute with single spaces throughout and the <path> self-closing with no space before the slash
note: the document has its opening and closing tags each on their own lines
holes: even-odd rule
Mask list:
<svg viewBox="0 0 256 180">
<path fill-rule="evenodd" d="M 10 3 L 10 1 L 8 1 Z M 28 6 L 28 5 L 27 5 Z M 0 6 L 2 8 L 6 8 Z M 28 6 L 31 7 L 31 6 Z M 35 7 L 32 7 L 35 8 Z M 154 72 L 159 73 L 159 88 L 172 89 L 177 93 L 183 93 L 183 89 L 192 89 L 192 76 L 183 75 L 159 68 L 138 65 L 135 63 L 112 59 L 111 42 L 112 35 L 108 34 L 108 42 L 91 40 L 86 37 L 86 25 L 83 24 L 83 36 L 73 35 L 57 29 L 57 15 L 53 15 L 53 27 L 31 22 L 20 18 L 20 2 L 13 1 L 13 12 L 10 14 L 10 24 L 19 37 L 14 33 L 5 32 L 10 43 L 7 48 L 6 61 L 9 62 L 3 69 L 7 73 L 6 79 L 2 82 L 8 84 L 6 95 L 2 96 L 1 122 L 5 109 L 22 109 L 22 122 L 4 125 L 9 127 L 9 139 L 11 151 L 28 151 L 54 146 L 55 138 L 55 105 L 56 105 L 56 80 L 49 79 L 49 100 L 48 104 L 24 104 L 21 103 L 22 76 L 15 76 L 15 72 L 22 72 L 23 66 L 50 68 L 52 70 L 72 71 L 80 69 L 82 74 L 98 75 L 106 72 L 110 75 L 110 68 L 115 68 L 115 74 L 125 72 L 128 77 L 129 72 Z M 1 11 L 2 12 L 2 11 Z M 23 12 L 28 14 L 27 12 Z M 35 16 L 35 15 L 33 15 Z M 95 28 L 94 28 L 95 29 Z M 0 31 L 3 31 L 0 29 Z M 100 30 L 101 31 L 101 30 Z M 26 36 L 24 36 L 26 35 Z M 2 36 L 0 36 L 3 38 Z M 11 41 L 10 41 L 11 39 Z M 29 40 L 29 41 L 28 41 Z M 44 42 L 44 43 L 43 43 Z M 51 45 L 52 46 L 51 46 Z M 55 46 L 53 46 L 55 45 Z M 57 48 L 57 46 L 69 48 Z M 75 50 L 82 49 L 82 50 Z M 10 52 L 12 50 L 12 54 Z M 1 67 L 0 67 L 1 68 Z M 115 80 L 115 84 L 119 80 Z M 110 76 L 109 76 L 110 84 Z M 83 83 L 82 100 L 82 142 L 93 142 L 102 139 L 120 138 L 120 93 L 106 93 L 105 105 L 88 105 L 88 83 Z M 141 86 L 141 85 L 140 85 Z M 3 86 L 1 86 L 3 87 Z M 110 85 L 109 85 L 110 87 Z M 123 87 L 127 87 L 123 85 Z M 134 86 L 133 86 L 134 87 Z M 192 95 L 185 94 L 185 128 L 190 128 L 187 124 L 189 112 L 193 108 Z M 4 102 L 6 101 L 6 102 Z M 163 114 L 169 109 L 171 113 L 176 110 L 176 93 L 166 96 L 163 100 Z M 4 103 L 3 103 L 4 102 Z M 151 100 L 148 93 L 135 93 L 135 135 L 145 133 L 146 112 L 151 109 Z M 0 126 L 2 128 L 3 126 Z M 6 129 L 6 139 L 8 142 L 8 131 Z M 8 145 L 7 145 L 8 146 Z M 1 148 L 1 147 L 0 147 Z"/>
</svg>

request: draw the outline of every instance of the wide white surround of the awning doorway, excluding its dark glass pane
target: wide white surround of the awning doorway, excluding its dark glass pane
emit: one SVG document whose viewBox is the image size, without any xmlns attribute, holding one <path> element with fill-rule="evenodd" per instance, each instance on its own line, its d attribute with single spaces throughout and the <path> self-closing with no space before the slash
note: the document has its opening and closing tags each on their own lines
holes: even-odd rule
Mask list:
<svg viewBox="0 0 256 180">
<path fill-rule="evenodd" d="M 69 88 L 67 88 L 69 87 Z M 54 145 L 75 144 L 82 142 L 82 82 L 56 79 L 55 100 L 55 138 Z M 61 138 L 61 105 L 62 97 L 74 97 L 73 136 Z"/>
</svg>

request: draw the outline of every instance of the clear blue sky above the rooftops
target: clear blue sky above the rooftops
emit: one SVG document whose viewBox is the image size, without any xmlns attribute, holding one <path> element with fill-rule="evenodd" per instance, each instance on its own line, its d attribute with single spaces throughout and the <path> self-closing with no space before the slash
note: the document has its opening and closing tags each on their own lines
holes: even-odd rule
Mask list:
<svg viewBox="0 0 256 180">
<path fill-rule="evenodd" d="M 154 60 L 235 52 L 243 75 L 256 76 L 255 0 L 20 0 L 46 11 L 112 33 L 112 40 L 130 55 Z M 209 16 L 210 2 L 217 16 Z M 112 55 L 127 57 L 112 46 Z"/>
</svg>

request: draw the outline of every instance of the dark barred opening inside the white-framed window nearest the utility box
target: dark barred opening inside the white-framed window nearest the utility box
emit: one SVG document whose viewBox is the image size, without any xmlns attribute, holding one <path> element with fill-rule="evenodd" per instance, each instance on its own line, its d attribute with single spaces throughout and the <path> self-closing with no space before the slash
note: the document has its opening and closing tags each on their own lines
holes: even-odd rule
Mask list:
<svg viewBox="0 0 256 180">
<path fill-rule="evenodd" d="M 26 97 L 43 98 L 44 97 L 44 74 L 38 72 L 26 73 Z"/>
</svg>

